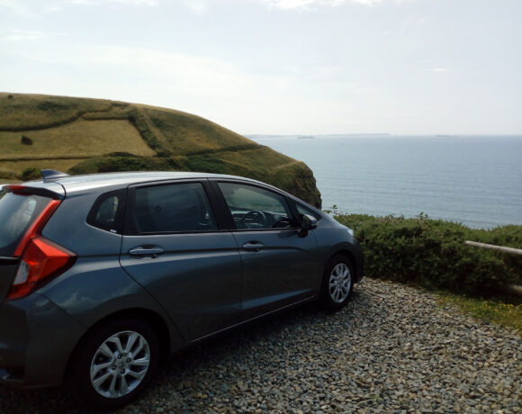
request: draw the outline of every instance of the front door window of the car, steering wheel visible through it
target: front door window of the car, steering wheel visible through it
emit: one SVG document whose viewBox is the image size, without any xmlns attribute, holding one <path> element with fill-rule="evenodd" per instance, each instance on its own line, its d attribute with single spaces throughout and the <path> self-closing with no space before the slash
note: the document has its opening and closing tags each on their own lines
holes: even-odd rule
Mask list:
<svg viewBox="0 0 522 414">
<path fill-rule="evenodd" d="M 284 229 L 293 227 L 292 214 L 283 195 L 254 185 L 220 183 L 236 229 Z"/>
</svg>

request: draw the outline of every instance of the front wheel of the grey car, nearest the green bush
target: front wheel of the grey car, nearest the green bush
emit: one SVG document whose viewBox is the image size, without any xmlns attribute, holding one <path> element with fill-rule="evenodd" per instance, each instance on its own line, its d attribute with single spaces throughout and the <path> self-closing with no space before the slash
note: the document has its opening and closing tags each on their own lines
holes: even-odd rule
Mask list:
<svg viewBox="0 0 522 414">
<path fill-rule="evenodd" d="M 347 257 L 329 259 L 322 280 L 322 302 L 329 311 L 343 308 L 354 290 L 354 270 Z"/>
</svg>

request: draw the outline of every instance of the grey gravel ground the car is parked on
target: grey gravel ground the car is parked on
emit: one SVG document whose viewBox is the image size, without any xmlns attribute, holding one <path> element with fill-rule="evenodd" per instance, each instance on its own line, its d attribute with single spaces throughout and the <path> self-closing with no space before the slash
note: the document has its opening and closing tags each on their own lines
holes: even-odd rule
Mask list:
<svg viewBox="0 0 522 414">
<path fill-rule="evenodd" d="M 522 413 L 522 339 L 366 278 L 338 313 L 312 304 L 174 356 L 119 413 Z M 0 388 L 0 412 L 79 412 L 60 390 Z"/>
</svg>

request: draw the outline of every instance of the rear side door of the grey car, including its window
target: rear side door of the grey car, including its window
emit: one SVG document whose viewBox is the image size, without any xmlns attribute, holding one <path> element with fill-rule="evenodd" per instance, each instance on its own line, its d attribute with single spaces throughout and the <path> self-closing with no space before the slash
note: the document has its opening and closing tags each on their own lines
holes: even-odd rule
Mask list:
<svg viewBox="0 0 522 414">
<path fill-rule="evenodd" d="M 205 187 L 204 181 L 131 186 L 121 246 L 123 269 L 187 341 L 227 328 L 241 314 L 237 243 L 220 229 Z"/>
</svg>

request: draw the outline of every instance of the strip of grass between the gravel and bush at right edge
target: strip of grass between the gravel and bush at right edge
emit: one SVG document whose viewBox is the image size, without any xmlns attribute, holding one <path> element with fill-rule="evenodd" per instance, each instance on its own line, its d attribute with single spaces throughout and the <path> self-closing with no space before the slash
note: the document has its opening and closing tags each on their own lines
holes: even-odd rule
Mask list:
<svg viewBox="0 0 522 414">
<path fill-rule="evenodd" d="M 455 293 L 437 292 L 437 302 L 445 307 L 456 305 L 464 313 L 480 320 L 488 320 L 509 329 L 522 329 L 522 303 L 509 298 L 478 299 Z"/>
</svg>

